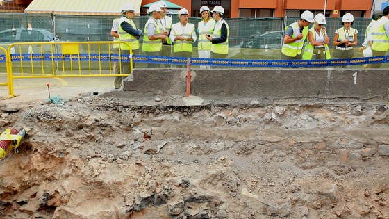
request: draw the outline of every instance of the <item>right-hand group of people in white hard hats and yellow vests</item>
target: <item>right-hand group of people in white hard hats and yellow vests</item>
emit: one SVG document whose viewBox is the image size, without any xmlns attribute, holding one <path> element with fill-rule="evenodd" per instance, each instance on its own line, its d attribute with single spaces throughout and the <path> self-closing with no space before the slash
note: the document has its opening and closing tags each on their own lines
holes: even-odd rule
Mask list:
<svg viewBox="0 0 389 219">
<path fill-rule="evenodd" d="M 346 13 L 342 25 L 333 35 L 333 58 L 354 58 L 354 47 L 358 43 L 358 30 L 352 28 L 354 16 Z M 313 26 L 309 28 L 309 25 Z M 313 15 L 304 11 L 300 19 L 285 28 L 281 58 L 285 60 L 323 60 L 330 59 L 329 36 L 326 31 L 326 18 L 322 13 Z M 372 22 L 367 26 L 365 41 L 358 51 L 365 57 L 385 56 L 389 49 L 389 6 L 383 11 L 374 11 Z M 379 68 L 381 63 L 365 65 Z"/>
</svg>

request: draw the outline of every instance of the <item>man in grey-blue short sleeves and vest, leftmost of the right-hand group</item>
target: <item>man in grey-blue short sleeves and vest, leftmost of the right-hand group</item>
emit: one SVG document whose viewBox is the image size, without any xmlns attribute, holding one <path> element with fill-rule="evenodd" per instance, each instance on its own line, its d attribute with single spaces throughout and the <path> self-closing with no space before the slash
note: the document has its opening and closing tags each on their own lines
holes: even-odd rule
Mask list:
<svg viewBox="0 0 389 219">
<path fill-rule="evenodd" d="M 306 10 L 300 19 L 285 28 L 285 37 L 281 49 L 281 59 L 301 59 L 304 41 L 308 36 L 308 26 L 313 23 L 313 13 Z"/>
</svg>

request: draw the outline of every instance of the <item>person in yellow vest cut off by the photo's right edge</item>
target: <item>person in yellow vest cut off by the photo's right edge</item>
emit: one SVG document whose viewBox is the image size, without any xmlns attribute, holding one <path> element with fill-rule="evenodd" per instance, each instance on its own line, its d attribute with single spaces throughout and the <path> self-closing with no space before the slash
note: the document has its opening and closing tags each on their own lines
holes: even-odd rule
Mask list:
<svg viewBox="0 0 389 219">
<path fill-rule="evenodd" d="M 389 49 L 389 6 L 383 8 L 382 17 L 374 24 L 372 39 L 372 55 L 385 56 Z M 371 67 L 379 68 L 381 63 L 372 64 Z"/>
</svg>

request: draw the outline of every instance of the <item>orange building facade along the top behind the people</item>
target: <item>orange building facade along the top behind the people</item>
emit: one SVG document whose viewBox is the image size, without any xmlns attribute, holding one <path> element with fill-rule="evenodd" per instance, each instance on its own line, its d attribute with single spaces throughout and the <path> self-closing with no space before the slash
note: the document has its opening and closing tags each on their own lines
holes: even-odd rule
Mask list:
<svg viewBox="0 0 389 219">
<path fill-rule="evenodd" d="M 156 0 L 143 0 L 142 5 Z M 325 13 L 326 17 L 342 17 L 352 13 L 354 17 L 371 17 L 373 0 L 169 0 L 190 11 L 190 16 L 199 16 L 201 5 L 211 8 L 223 6 L 226 17 L 284 17 L 299 16 L 304 10 Z"/>
</svg>

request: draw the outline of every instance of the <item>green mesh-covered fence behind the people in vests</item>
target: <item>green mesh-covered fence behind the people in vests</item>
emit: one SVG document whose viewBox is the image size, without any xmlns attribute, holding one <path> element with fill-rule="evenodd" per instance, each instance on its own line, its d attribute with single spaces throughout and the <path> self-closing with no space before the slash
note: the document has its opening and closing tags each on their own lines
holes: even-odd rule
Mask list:
<svg viewBox="0 0 389 219">
<path fill-rule="evenodd" d="M 0 13 L 0 44 L 17 42 L 42 42 L 58 38 L 60 42 L 92 42 L 111 41 L 110 29 L 113 19 L 117 16 L 90 15 L 53 15 Z M 144 29 L 148 16 L 134 17 L 133 21 L 139 29 Z M 283 42 L 283 32 L 286 25 L 296 22 L 299 17 L 267 17 L 267 18 L 231 18 L 226 19 L 230 26 L 229 56 L 233 59 L 280 59 L 280 49 Z M 179 22 L 179 17 L 172 17 L 172 22 Z M 189 22 L 197 28 L 199 17 L 190 17 Z M 365 29 L 371 19 L 356 18 L 353 27 L 358 30 L 358 45 L 364 40 Z M 326 29 L 332 45 L 336 29 L 342 26 L 340 17 L 326 18 Z M 34 34 L 23 37 L 22 31 L 30 24 Z M 12 31 L 13 28 L 17 31 Z M 37 33 L 38 32 L 38 33 Z M 36 34 L 36 35 L 35 35 Z M 142 40 L 140 39 L 140 47 Z M 192 58 L 197 58 L 197 42 L 193 45 Z M 357 49 L 357 48 L 356 48 Z M 11 51 L 12 52 L 12 51 Z M 362 54 L 356 52 L 356 57 Z M 140 48 L 140 55 L 142 49 Z M 143 64 L 138 67 L 144 67 Z"/>
</svg>

